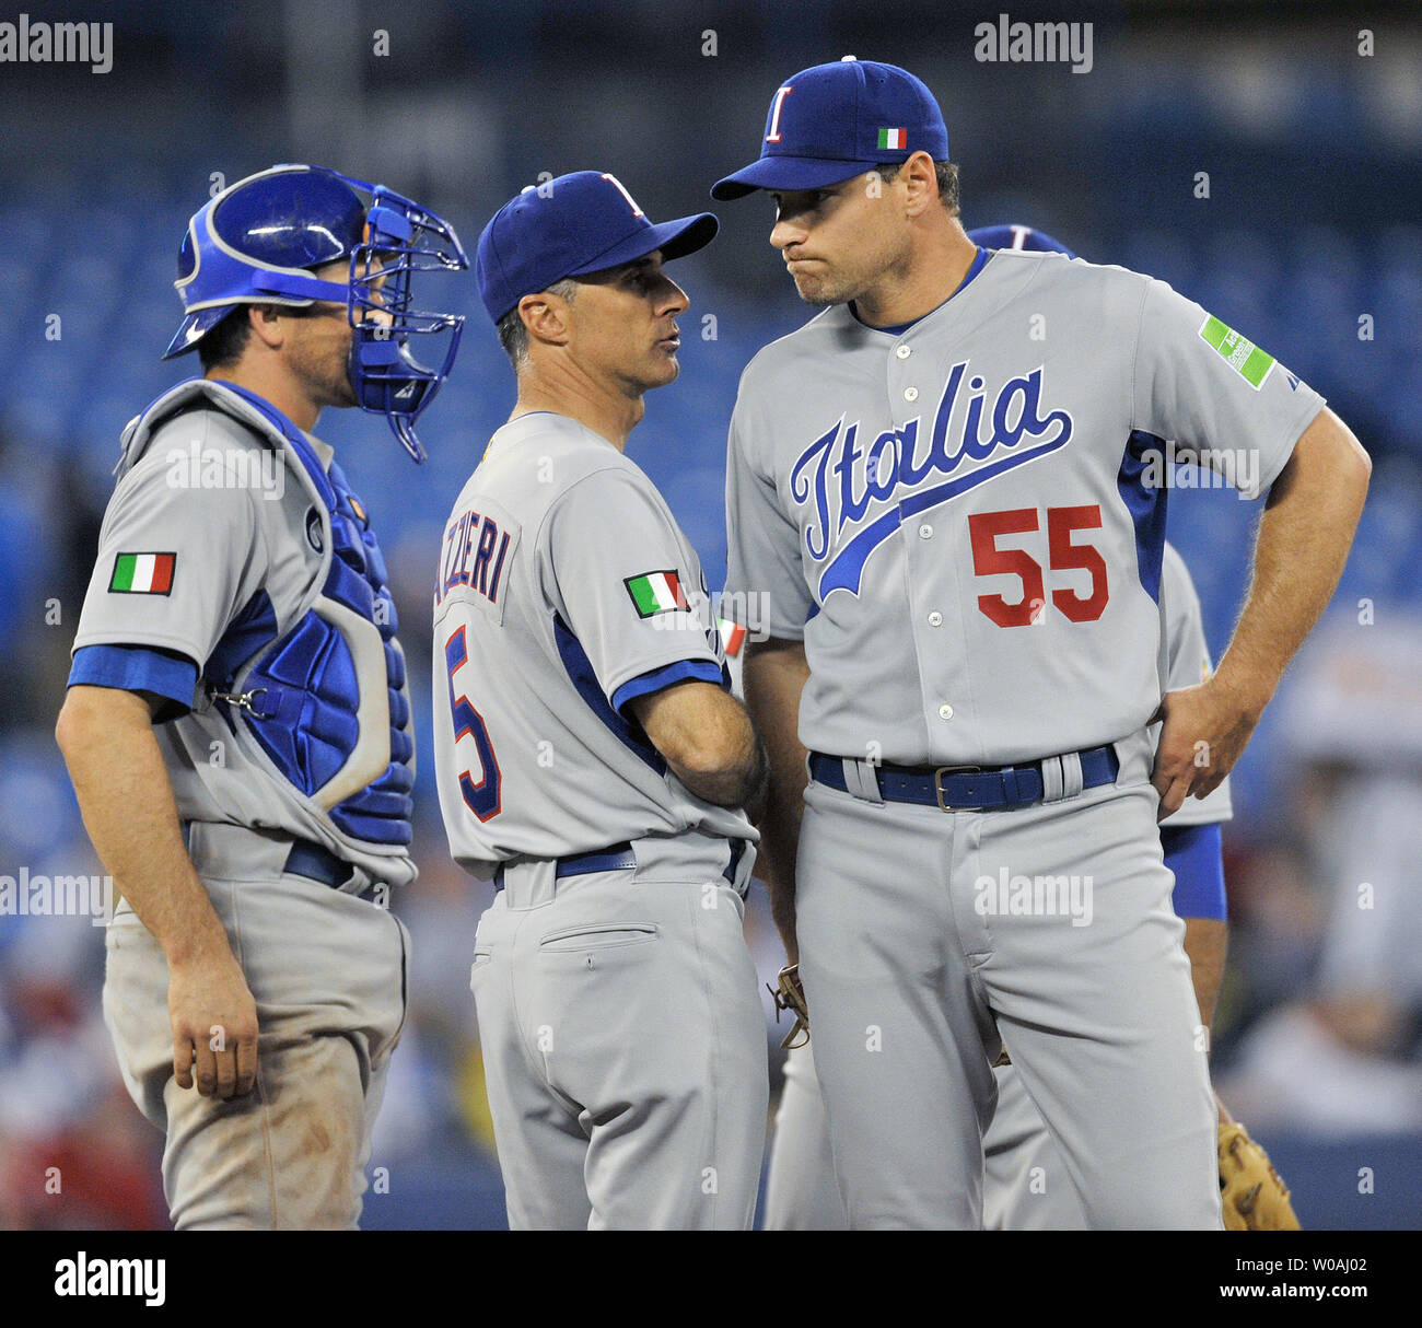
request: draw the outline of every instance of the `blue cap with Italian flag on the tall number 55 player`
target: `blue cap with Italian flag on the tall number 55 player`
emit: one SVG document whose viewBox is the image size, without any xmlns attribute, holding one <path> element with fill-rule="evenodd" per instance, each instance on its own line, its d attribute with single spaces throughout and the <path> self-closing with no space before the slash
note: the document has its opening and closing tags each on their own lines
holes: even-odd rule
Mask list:
<svg viewBox="0 0 1422 1328">
<path fill-rule="evenodd" d="M 948 129 L 933 94 L 896 64 L 846 55 L 781 84 L 765 117 L 761 159 L 717 181 L 711 196 L 822 189 L 914 152 L 948 159 Z"/>
</svg>

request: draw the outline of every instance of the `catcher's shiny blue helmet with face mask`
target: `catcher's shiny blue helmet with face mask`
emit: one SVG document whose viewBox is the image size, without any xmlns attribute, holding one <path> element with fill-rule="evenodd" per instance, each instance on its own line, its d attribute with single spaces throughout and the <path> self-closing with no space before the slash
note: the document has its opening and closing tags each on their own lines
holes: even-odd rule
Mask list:
<svg viewBox="0 0 1422 1328">
<path fill-rule="evenodd" d="M 370 195 L 368 206 L 357 191 Z M 348 284 L 310 272 L 341 259 Z M 229 185 L 188 223 L 173 283 L 185 317 L 164 358 L 192 350 L 239 304 L 344 304 L 357 405 L 384 415 L 424 461 L 414 421 L 454 365 L 464 316 L 414 309 L 411 279 L 468 266 L 454 227 L 392 189 L 324 166 L 272 166 Z M 365 317 L 373 310 L 385 317 Z M 411 355 L 414 336 L 444 336 L 439 368 Z"/>
</svg>

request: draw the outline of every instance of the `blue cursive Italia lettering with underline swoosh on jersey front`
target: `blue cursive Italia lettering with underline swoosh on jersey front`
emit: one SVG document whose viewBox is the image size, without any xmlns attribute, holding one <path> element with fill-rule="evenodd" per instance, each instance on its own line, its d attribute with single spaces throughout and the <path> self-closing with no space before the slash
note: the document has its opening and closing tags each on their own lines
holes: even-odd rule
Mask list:
<svg viewBox="0 0 1422 1328">
<path fill-rule="evenodd" d="M 832 590 L 857 594 L 869 555 L 910 516 L 1071 441 L 1069 411 L 1042 415 L 1041 365 L 1010 378 L 991 407 L 984 380 L 974 375 L 960 409 L 967 367 L 964 360 L 948 371 L 939 408 L 927 425 L 921 425 L 921 417 L 914 417 L 902 429 L 887 429 L 867 448 L 860 448 L 859 421 L 846 427 L 840 415 L 796 458 L 791 469 L 791 496 L 812 506 L 805 523 L 805 550 L 816 563 L 826 563 L 819 577 L 820 603 Z M 921 488 L 936 476 L 944 476 L 944 482 Z M 894 495 L 904 489 L 914 492 L 896 500 Z M 880 503 L 892 506 L 840 543 L 845 528 L 859 526 Z M 833 556 L 830 549 L 835 549 Z"/>
</svg>

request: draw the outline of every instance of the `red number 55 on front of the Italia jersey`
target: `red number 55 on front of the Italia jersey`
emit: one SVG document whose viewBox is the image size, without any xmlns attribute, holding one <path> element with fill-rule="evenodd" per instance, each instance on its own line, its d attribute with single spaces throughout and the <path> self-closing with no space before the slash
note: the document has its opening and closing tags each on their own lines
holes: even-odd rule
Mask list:
<svg viewBox="0 0 1422 1328">
<path fill-rule="evenodd" d="M 1047 509 L 1047 557 L 1054 572 L 1079 567 L 1091 573 L 1091 594 L 1054 590 L 1052 603 L 1074 623 L 1094 623 L 1106 609 L 1106 560 L 1091 545 L 1072 543 L 1074 530 L 1101 528 L 1101 505 Z M 1042 564 L 1025 549 L 998 549 L 1003 535 L 1028 535 L 1039 529 L 1035 508 L 1008 512 L 974 512 L 968 518 L 973 540 L 973 570 L 978 576 L 1015 576 L 1022 583 L 1022 597 L 1015 603 L 1001 594 L 980 594 L 978 609 L 998 627 L 1025 627 L 1047 610 L 1047 586 Z"/>
</svg>

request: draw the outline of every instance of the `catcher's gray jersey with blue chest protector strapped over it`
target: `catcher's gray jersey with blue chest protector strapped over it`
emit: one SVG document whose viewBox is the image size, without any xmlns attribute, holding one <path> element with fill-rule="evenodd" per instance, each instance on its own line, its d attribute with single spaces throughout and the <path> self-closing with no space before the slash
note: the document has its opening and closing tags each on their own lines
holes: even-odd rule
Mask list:
<svg viewBox="0 0 1422 1328">
<path fill-rule="evenodd" d="M 70 682 L 164 698 L 178 812 L 405 884 L 414 741 L 364 506 L 331 449 L 195 380 L 125 432 Z M 245 701 L 237 698 L 245 697 Z"/>
</svg>

